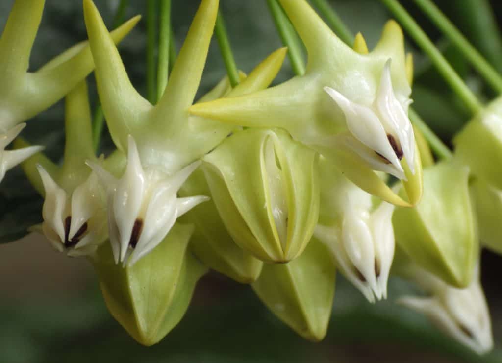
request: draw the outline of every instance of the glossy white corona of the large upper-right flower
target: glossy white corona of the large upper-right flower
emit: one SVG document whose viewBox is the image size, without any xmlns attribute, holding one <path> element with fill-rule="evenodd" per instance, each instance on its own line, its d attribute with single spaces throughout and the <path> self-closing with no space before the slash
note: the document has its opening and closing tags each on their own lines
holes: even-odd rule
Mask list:
<svg viewBox="0 0 502 363">
<path fill-rule="evenodd" d="M 408 118 L 412 100 L 400 102 L 392 87 L 391 60 L 384 66 L 380 86 L 370 106 L 350 101 L 340 92 L 324 87 L 338 104 L 353 138 L 346 144 L 375 170 L 382 170 L 404 179 L 400 160 L 406 158 L 415 173 L 415 136 Z"/>
</svg>

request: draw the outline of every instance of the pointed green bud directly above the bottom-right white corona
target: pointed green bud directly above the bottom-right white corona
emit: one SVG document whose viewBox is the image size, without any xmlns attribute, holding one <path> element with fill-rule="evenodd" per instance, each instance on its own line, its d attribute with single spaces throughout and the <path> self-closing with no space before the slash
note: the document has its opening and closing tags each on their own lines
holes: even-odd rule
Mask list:
<svg viewBox="0 0 502 363">
<path fill-rule="evenodd" d="M 468 177 L 467 167 L 452 162 L 425 169 L 422 201 L 393 216 L 396 242 L 410 259 L 459 288 L 470 283 L 478 251 Z"/>
</svg>

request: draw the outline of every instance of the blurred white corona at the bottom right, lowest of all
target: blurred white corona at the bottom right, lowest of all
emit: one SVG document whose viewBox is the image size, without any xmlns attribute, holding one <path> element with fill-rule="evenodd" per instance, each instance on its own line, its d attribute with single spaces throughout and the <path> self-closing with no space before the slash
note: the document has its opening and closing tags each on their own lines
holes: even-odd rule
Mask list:
<svg viewBox="0 0 502 363">
<path fill-rule="evenodd" d="M 479 354 L 492 348 L 490 314 L 479 282 L 479 266 L 465 289 L 447 285 L 419 268 L 413 270 L 412 276 L 432 296 L 405 296 L 398 300 L 400 304 L 425 314 L 440 329 Z"/>
</svg>

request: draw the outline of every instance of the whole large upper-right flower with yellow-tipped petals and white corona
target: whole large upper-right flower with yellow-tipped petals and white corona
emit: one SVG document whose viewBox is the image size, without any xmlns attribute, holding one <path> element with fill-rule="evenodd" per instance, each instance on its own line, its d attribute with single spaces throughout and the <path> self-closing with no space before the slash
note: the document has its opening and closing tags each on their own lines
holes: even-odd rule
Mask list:
<svg viewBox="0 0 502 363">
<path fill-rule="evenodd" d="M 305 0 L 280 3 L 307 47 L 305 75 L 250 95 L 196 104 L 190 112 L 228 124 L 284 128 L 332 159 L 361 189 L 409 205 L 372 171 L 421 187 L 415 180 L 421 178 L 421 165 L 407 116 L 411 88 L 401 29 L 389 22 L 375 49 L 360 54 Z M 361 52 L 365 47 L 358 44 Z M 411 193 L 409 203 L 418 203 L 420 195 L 421 190 Z"/>
</svg>

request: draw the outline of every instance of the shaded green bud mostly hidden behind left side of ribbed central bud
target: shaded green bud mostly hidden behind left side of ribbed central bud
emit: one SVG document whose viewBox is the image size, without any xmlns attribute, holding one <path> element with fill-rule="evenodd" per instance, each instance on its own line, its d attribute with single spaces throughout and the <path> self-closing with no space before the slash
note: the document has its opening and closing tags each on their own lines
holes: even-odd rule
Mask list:
<svg viewBox="0 0 502 363">
<path fill-rule="evenodd" d="M 211 195 L 200 168 L 187 179 L 178 195 Z M 190 210 L 179 221 L 195 225 L 189 248 L 206 266 L 241 283 L 256 281 L 260 276 L 263 262 L 235 244 L 212 200 Z"/>
</svg>

